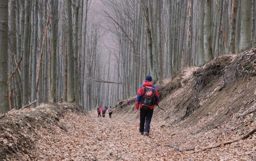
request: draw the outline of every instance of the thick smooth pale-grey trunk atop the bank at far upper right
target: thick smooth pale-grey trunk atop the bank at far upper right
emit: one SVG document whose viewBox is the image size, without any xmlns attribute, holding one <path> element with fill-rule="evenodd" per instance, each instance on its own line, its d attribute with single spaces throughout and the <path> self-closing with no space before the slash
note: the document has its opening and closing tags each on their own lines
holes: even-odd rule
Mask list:
<svg viewBox="0 0 256 161">
<path fill-rule="evenodd" d="M 241 0 L 241 31 L 239 52 L 252 47 L 250 42 L 250 20 L 252 14 L 252 0 Z"/>
</svg>

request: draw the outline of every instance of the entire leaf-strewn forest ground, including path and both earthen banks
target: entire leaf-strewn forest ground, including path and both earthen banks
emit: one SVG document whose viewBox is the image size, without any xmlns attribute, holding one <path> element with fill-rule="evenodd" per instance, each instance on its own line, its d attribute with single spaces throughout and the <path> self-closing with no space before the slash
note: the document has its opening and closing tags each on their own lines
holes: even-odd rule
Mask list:
<svg viewBox="0 0 256 161">
<path fill-rule="evenodd" d="M 241 138 L 256 129 L 255 52 L 158 84 L 164 110 L 155 108 L 149 136 L 139 134 L 135 97 L 118 102 L 111 119 L 66 102 L 0 114 L 0 160 L 255 161 L 256 133 Z"/>
</svg>

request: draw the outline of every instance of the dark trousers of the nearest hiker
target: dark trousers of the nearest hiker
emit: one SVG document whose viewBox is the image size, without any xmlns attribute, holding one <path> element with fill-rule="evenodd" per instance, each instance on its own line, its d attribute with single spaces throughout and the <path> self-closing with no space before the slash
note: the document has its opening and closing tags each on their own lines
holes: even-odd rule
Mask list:
<svg viewBox="0 0 256 161">
<path fill-rule="evenodd" d="M 154 109 L 149 110 L 149 109 L 140 108 L 140 119 L 139 119 L 140 120 L 140 123 L 139 123 L 139 131 L 140 132 L 149 132 L 153 111 L 154 111 Z"/>
</svg>

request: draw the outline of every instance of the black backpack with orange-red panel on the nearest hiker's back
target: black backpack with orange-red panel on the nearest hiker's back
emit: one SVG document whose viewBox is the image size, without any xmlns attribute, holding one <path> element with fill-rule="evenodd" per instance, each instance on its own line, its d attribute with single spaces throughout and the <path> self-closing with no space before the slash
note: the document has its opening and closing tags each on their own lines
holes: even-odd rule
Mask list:
<svg viewBox="0 0 256 161">
<path fill-rule="evenodd" d="M 156 104 L 155 98 L 155 88 L 152 86 L 145 86 L 144 92 L 141 98 L 141 108 L 150 109 L 152 105 Z"/>
</svg>

